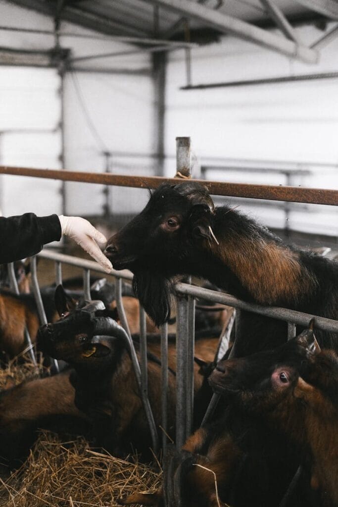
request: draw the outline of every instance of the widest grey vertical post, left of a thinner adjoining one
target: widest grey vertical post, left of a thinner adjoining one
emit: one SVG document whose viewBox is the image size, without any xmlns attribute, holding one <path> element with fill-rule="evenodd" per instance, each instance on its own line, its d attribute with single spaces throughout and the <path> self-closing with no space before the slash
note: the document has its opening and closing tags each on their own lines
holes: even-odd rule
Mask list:
<svg viewBox="0 0 338 507">
<path fill-rule="evenodd" d="M 176 297 L 176 447 L 180 449 L 186 440 L 187 401 L 187 298 Z"/>
</svg>

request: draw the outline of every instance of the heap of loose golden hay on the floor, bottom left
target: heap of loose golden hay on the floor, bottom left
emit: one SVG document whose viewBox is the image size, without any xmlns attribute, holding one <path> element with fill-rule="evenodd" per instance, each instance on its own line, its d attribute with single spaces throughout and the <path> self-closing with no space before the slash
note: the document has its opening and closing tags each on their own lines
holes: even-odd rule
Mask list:
<svg viewBox="0 0 338 507">
<path fill-rule="evenodd" d="M 61 442 L 43 432 L 22 467 L 6 480 L 0 478 L 3 507 L 114 506 L 121 496 L 156 489 L 161 473 L 89 448 L 83 438 Z"/>
</svg>

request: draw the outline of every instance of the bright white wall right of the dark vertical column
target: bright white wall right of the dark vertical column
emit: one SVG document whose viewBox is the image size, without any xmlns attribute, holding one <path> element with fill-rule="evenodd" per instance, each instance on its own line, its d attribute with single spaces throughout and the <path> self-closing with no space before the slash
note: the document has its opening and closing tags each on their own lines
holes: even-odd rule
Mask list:
<svg viewBox="0 0 338 507">
<path fill-rule="evenodd" d="M 322 32 L 299 28 L 311 44 Z M 223 38 L 192 51 L 193 84 L 272 78 L 338 71 L 338 39 L 321 50 L 317 65 L 307 65 L 266 49 Z M 166 152 L 173 155 L 176 136 L 191 136 L 200 163 L 219 159 L 263 159 L 338 163 L 337 79 L 259 86 L 182 91 L 185 86 L 184 55 L 170 55 L 167 71 Z M 167 174 L 173 173 L 173 161 Z M 261 164 L 261 162 L 259 162 Z M 266 164 L 268 167 L 271 164 Z M 302 164 L 301 164 L 302 166 Z M 312 176 L 296 177 L 294 185 L 338 188 L 338 166 L 314 164 Z M 210 171 L 209 179 L 233 182 L 285 184 L 283 175 Z M 243 202 L 243 201 L 242 201 Z M 284 213 L 274 208 L 243 204 L 244 210 L 272 227 L 283 227 Z M 304 208 L 304 207 L 303 207 Z M 308 206 L 291 213 L 289 226 L 296 230 L 338 235 L 336 207 Z"/>
</svg>

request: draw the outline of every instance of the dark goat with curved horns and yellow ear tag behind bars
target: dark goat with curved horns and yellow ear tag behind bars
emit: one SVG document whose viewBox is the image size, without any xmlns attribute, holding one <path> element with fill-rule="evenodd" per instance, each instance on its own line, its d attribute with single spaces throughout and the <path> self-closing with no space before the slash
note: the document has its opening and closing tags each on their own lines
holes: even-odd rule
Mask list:
<svg viewBox="0 0 338 507">
<path fill-rule="evenodd" d="M 145 455 L 151 445 L 149 428 L 121 328 L 106 316 L 109 314 L 107 310 L 95 310 L 95 302 L 82 309 L 69 311 L 64 301 L 62 307 L 62 291 L 62 286 L 59 286 L 56 305 L 64 317 L 40 329 L 40 346 L 52 357 L 67 361 L 76 371 L 76 375 L 72 376 L 72 383 L 76 386 L 76 405 L 93 421 L 98 444 L 121 455 L 130 451 L 132 443 Z M 94 311 L 89 308 L 94 308 Z M 104 335 L 103 325 L 106 325 L 105 334 L 109 332 L 112 336 L 97 338 L 95 335 Z M 212 359 L 217 342 L 217 338 L 198 340 L 198 355 Z M 147 349 L 148 395 L 159 426 L 162 416 L 159 337 L 149 339 Z M 173 343 L 169 344 L 168 363 L 168 426 L 169 433 L 173 434 L 176 384 Z M 195 390 L 201 383 L 201 377 L 195 375 Z"/>
</svg>

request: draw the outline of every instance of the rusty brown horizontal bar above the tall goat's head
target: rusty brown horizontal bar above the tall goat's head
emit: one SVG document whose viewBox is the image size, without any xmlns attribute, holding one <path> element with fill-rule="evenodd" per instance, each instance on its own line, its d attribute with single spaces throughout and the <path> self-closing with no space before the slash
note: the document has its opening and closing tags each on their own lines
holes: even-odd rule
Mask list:
<svg viewBox="0 0 338 507">
<path fill-rule="evenodd" d="M 158 188 L 161 183 L 177 184 L 177 178 L 160 176 L 127 176 L 95 172 L 76 172 L 54 169 L 30 169 L 27 167 L 0 166 L 0 174 L 14 174 L 37 178 L 60 179 L 69 182 L 116 185 L 118 187 Z M 310 204 L 338 205 L 338 190 L 278 185 L 251 185 L 243 183 L 213 182 L 204 179 L 193 181 L 205 185 L 210 194 L 273 201 L 304 202 Z"/>
</svg>

